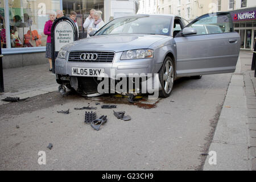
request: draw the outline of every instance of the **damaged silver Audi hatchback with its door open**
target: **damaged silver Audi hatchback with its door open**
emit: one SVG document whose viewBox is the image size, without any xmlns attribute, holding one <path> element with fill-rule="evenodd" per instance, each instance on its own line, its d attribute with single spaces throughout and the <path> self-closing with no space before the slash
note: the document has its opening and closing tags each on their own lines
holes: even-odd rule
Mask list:
<svg viewBox="0 0 256 182">
<path fill-rule="evenodd" d="M 191 23 L 162 14 L 117 18 L 61 48 L 56 80 L 64 89 L 97 96 L 101 73 L 158 73 L 159 94 L 168 97 L 177 77 L 234 72 L 240 42 L 229 13 L 205 14 Z"/>
</svg>

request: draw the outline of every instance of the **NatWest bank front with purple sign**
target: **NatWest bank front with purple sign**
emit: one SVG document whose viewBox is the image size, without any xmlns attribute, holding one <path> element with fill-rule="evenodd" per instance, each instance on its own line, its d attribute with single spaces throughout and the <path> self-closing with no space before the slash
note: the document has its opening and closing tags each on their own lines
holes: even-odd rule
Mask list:
<svg viewBox="0 0 256 182">
<path fill-rule="evenodd" d="M 256 37 L 256 7 L 231 11 L 234 31 L 241 36 L 241 49 L 253 50 Z"/>
</svg>

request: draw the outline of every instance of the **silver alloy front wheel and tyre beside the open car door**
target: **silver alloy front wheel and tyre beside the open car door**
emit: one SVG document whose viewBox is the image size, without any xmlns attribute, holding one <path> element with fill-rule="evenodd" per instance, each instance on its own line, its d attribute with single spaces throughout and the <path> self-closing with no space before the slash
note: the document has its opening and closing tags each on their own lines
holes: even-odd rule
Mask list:
<svg viewBox="0 0 256 182">
<path fill-rule="evenodd" d="M 169 97 L 174 86 L 174 76 L 175 76 L 174 61 L 171 57 L 167 56 L 164 59 L 162 68 L 159 71 L 159 80 L 162 86 L 162 90 L 159 91 L 160 97 Z"/>
</svg>

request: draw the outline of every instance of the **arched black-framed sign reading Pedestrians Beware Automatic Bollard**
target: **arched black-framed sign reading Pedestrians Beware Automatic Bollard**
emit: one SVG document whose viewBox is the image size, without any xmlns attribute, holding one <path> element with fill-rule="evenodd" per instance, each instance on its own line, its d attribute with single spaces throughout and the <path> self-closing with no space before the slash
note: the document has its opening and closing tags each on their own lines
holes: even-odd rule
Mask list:
<svg viewBox="0 0 256 182">
<path fill-rule="evenodd" d="M 78 40 L 78 30 L 71 18 L 56 19 L 51 29 L 52 73 L 55 73 L 55 59 L 61 47 Z"/>
</svg>

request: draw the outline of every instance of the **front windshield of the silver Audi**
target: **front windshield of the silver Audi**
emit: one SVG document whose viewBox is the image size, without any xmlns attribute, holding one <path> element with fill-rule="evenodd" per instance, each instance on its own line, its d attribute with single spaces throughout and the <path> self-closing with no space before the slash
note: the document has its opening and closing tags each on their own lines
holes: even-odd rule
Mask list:
<svg viewBox="0 0 256 182">
<path fill-rule="evenodd" d="M 137 16 L 114 19 L 96 35 L 112 34 L 170 34 L 170 16 Z"/>
</svg>

